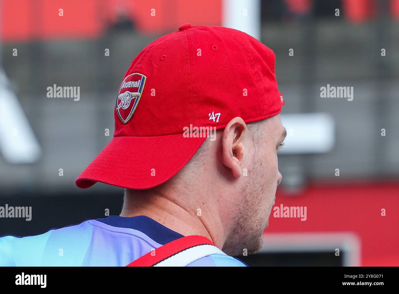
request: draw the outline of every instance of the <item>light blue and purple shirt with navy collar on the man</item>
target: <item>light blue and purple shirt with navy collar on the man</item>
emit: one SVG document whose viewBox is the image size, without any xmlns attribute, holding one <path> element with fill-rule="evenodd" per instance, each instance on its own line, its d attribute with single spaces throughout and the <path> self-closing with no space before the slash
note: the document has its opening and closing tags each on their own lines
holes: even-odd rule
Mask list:
<svg viewBox="0 0 399 294">
<path fill-rule="evenodd" d="M 126 266 L 183 235 L 148 216 L 109 216 L 28 237 L 0 237 L 0 266 Z M 210 254 L 188 266 L 246 266 Z"/>
</svg>

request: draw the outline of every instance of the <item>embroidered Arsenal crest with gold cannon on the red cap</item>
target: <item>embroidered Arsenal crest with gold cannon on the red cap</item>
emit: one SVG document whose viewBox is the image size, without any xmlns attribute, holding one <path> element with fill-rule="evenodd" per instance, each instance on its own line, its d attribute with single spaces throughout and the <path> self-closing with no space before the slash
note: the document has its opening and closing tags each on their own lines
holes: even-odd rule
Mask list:
<svg viewBox="0 0 399 294">
<path fill-rule="evenodd" d="M 132 118 L 146 83 L 144 74 L 129 74 L 120 85 L 117 96 L 117 113 L 124 124 Z"/>
</svg>

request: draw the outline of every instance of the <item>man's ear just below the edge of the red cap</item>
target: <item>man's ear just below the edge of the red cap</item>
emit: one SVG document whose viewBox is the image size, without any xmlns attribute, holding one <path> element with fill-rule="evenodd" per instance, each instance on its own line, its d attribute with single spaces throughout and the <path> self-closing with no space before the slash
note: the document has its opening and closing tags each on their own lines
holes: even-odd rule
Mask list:
<svg viewBox="0 0 399 294">
<path fill-rule="evenodd" d="M 241 176 L 247 132 L 247 125 L 238 116 L 230 120 L 223 131 L 221 162 L 236 178 Z"/>
</svg>

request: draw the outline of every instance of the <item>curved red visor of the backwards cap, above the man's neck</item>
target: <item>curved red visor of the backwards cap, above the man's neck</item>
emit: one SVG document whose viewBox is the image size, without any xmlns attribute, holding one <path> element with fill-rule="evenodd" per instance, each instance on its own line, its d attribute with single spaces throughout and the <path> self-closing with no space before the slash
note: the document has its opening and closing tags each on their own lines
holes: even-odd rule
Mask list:
<svg viewBox="0 0 399 294">
<path fill-rule="evenodd" d="M 129 189 L 149 189 L 172 178 L 192 158 L 203 138 L 183 134 L 115 137 L 75 180 L 79 188 L 96 182 Z"/>
</svg>

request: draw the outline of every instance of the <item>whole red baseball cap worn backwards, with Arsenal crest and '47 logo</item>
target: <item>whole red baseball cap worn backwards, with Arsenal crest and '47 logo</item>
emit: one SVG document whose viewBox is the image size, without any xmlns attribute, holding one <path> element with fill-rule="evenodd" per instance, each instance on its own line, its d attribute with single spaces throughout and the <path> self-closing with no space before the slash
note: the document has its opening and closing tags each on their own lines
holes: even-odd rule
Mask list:
<svg viewBox="0 0 399 294">
<path fill-rule="evenodd" d="M 75 184 L 158 186 L 205 141 L 184 136 L 190 125 L 221 129 L 236 116 L 263 120 L 282 104 L 272 50 L 238 30 L 184 24 L 134 58 L 117 93 L 114 138 Z"/>
</svg>

